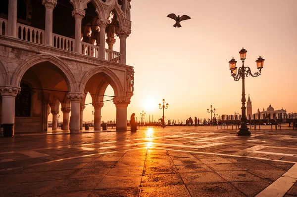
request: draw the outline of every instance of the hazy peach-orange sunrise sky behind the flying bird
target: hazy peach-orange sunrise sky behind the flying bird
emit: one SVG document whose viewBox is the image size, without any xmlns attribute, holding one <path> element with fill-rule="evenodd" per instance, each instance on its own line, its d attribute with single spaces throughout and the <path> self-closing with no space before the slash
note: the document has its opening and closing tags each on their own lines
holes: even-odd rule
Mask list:
<svg viewBox="0 0 297 197">
<path fill-rule="evenodd" d="M 135 84 L 128 119 L 135 113 L 139 121 L 144 110 L 145 121 L 149 115 L 158 120 L 162 99 L 169 104 L 165 121 L 210 118 L 210 105 L 218 115 L 241 114 L 242 80 L 234 81 L 228 62 L 234 57 L 241 65 L 242 47 L 252 73 L 259 55 L 265 59 L 261 75 L 246 78 L 252 113 L 269 104 L 297 112 L 297 0 L 132 0 L 131 6 L 126 59 Z M 170 13 L 192 19 L 174 28 Z M 110 86 L 105 95 L 114 95 Z M 89 95 L 86 103 L 92 103 Z M 84 121 L 92 121 L 92 110 L 86 107 Z M 116 118 L 112 101 L 101 115 L 104 121 Z"/>
</svg>

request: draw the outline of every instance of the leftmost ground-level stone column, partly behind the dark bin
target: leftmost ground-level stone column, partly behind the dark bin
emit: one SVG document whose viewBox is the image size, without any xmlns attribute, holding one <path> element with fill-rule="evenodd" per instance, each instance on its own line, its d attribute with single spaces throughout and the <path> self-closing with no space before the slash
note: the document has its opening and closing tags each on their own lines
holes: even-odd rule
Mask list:
<svg viewBox="0 0 297 197">
<path fill-rule="evenodd" d="M 1 124 L 13 123 L 14 124 L 14 109 L 15 109 L 15 97 L 21 91 L 20 87 L 5 86 L 0 87 L 0 93 L 2 97 L 2 116 Z M 14 127 L 12 136 L 14 135 Z"/>
</svg>

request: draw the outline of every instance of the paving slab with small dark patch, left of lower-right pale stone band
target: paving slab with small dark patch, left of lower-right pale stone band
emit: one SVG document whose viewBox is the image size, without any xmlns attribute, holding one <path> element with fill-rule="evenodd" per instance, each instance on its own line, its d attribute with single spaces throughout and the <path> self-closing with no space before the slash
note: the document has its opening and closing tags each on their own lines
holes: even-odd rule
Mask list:
<svg viewBox="0 0 297 197">
<path fill-rule="evenodd" d="M 228 182 L 236 181 L 265 181 L 264 179 L 255 176 L 247 171 L 217 171 L 221 177 Z"/>
</svg>

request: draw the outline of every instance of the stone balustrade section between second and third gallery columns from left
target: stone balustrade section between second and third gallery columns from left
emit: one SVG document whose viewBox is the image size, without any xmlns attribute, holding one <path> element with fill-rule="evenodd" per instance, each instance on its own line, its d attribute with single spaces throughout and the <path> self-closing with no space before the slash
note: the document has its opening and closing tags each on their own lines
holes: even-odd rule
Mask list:
<svg viewBox="0 0 297 197">
<path fill-rule="evenodd" d="M 75 39 L 70 39 L 58 34 L 52 34 L 52 46 L 66 51 L 74 51 Z"/>
</svg>

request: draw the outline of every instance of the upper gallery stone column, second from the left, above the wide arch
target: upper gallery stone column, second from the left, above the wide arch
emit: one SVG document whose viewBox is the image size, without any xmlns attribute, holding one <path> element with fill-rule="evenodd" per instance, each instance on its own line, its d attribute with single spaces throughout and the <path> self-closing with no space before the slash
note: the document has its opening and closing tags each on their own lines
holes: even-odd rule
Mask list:
<svg viewBox="0 0 297 197">
<path fill-rule="evenodd" d="M 52 46 L 52 10 L 57 4 L 57 0 L 42 0 L 46 7 L 46 31 L 45 44 Z"/>
</svg>

